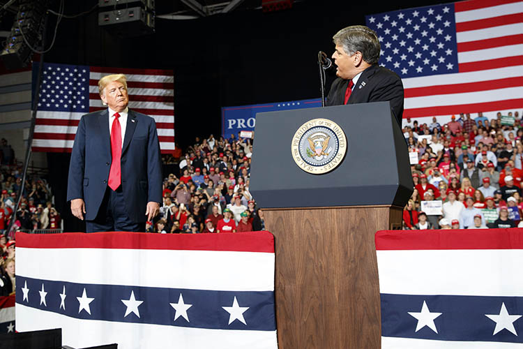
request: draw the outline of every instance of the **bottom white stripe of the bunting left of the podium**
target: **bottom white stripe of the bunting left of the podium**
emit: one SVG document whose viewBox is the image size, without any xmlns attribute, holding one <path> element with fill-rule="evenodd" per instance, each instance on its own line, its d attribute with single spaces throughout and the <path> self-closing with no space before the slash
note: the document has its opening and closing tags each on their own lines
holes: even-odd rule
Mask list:
<svg viewBox="0 0 523 349">
<path fill-rule="evenodd" d="M 278 348 L 275 331 L 194 329 L 100 320 L 85 321 L 51 312 L 45 312 L 46 321 L 43 322 L 42 311 L 22 304 L 16 306 L 16 313 L 17 318 L 24 319 L 23 322 L 16 323 L 18 332 L 47 329 L 47 324 L 56 324 L 56 327 L 62 329 L 62 342 L 75 348 L 102 346 L 107 343 L 118 343 L 119 348 L 139 349 L 166 348 L 169 346 L 166 343 L 176 343 L 176 348 L 192 349 Z M 112 331 L 107 331 L 108 326 Z"/>
</svg>

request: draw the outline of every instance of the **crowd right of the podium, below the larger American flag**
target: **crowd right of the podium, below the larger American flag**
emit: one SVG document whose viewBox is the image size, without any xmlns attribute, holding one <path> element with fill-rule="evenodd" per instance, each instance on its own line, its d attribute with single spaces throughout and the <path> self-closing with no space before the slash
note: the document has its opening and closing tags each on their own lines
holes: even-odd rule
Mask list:
<svg viewBox="0 0 523 349">
<path fill-rule="evenodd" d="M 453 115 L 440 125 L 407 119 L 404 136 L 414 193 L 403 228 L 478 229 L 523 226 L 523 119 L 518 112 Z M 416 163 L 417 162 L 417 163 Z"/>
</svg>

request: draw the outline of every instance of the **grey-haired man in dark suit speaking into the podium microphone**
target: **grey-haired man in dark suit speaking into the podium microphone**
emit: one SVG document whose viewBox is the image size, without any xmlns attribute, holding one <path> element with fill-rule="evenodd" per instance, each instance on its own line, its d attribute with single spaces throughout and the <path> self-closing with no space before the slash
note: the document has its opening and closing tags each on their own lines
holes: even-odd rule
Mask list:
<svg viewBox="0 0 523 349">
<path fill-rule="evenodd" d="M 332 58 L 338 66 L 326 105 L 390 101 L 394 116 L 402 126 L 403 84 L 391 70 L 378 66 L 380 45 L 370 28 L 355 25 L 333 36 Z"/>
</svg>

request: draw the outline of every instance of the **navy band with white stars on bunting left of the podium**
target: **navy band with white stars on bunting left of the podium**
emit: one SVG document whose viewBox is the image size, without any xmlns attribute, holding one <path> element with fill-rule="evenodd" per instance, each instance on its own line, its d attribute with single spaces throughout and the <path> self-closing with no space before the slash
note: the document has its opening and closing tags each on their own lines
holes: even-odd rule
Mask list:
<svg viewBox="0 0 523 349">
<path fill-rule="evenodd" d="M 23 293 L 17 288 L 18 304 L 31 306 L 31 308 L 42 311 L 61 313 L 70 318 L 81 318 L 89 320 L 105 321 L 125 321 L 138 322 L 153 325 L 174 325 L 202 329 L 246 329 L 243 323 L 228 324 L 229 313 L 222 309 L 222 306 L 232 305 L 234 297 L 240 304 L 257 304 L 257 308 L 245 312 L 245 320 L 249 323 L 249 328 L 255 331 L 275 331 L 273 318 L 274 311 L 274 292 L 272 291 L 243 291 L 243 290 L 198 290 L 176 287 L 149 287 L 144 285 L 126 284 L 100 284 L 89 283 L 86 281 L 73 283 L 70 281 L 28 278 L 25 275 L 17 275 L 21 285 L 29 288 L 29 297 L 23 299 Z M 66 289 L 64 305 L 65 310 L 60 309 L 59 297 L 47 297 L 46 304 L 40 302 L 40 297 L 36 297 L 36 290 L 43 285 L 45 291 L 50 295 L 59 295 Z M 35 290 L 31 294 L 31 289 Z M 80 297 L 83 290 L 86 290 L 89 297 L 94 298 L 90 304 L 89 313 L 79 312 L 79 304 L 75 297 Z M 124 318 L 126 305 L 121 302 L 121 295 L 130 295 L 131 291 L 137 299 L 151 299 L 139 306 L 140 317 L 129 316 Z M 174 309 L 170 302 L 177 302 L 179 295 L 183 294 L 185 302 L 194 304 L 188 311 L 189 322 L 185 319 L 173 321 Z M 20 298 L 19 298 L 20 297 Z M 143 297 L 143 298 L 141 298 Z M 229 300 L 230 299 L 230 300 Z M 195 304 L 197 302 L 197 304 Z M 248 309 L 249 310 L 249 309 Z M 136 315 L 136 314 L 134 314 Z"/>
</svg>

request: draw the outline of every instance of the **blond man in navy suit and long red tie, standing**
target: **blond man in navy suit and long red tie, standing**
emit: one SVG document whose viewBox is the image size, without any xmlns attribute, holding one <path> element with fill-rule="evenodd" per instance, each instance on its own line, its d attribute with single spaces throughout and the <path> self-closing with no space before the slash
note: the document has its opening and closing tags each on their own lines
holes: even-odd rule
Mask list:
<svg viewBox="0 0 523 349">
<path fill-rule="evenodd" d="M 153 118 L 129 110 L 127 80 L 98 82 L 106 110 L 84 115 L 71 154 L 67 200 L 87 232 L 145 231 L 162 202 L 160 144 Z"/>
</svg>

